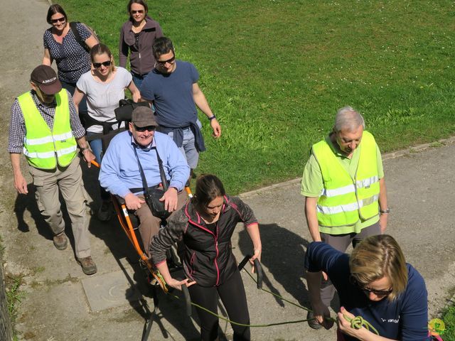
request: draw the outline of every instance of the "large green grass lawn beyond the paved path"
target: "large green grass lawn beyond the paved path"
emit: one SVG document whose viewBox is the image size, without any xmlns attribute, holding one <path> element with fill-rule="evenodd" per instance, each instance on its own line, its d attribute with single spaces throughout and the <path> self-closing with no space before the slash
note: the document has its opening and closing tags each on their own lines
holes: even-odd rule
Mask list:
<svg viewBox="0 0 455 341">
<path fill-rule="evenodd" d="M 59 3 L 117 56 L 127 0 Z M 229 193 L 301 176 L 345 105 L 382 152 L 454 134 L 453 1 L 149 1 L 149 15 L 198 67 L 223 136 L 201 117 L 197 173 Z"/>
</svg>

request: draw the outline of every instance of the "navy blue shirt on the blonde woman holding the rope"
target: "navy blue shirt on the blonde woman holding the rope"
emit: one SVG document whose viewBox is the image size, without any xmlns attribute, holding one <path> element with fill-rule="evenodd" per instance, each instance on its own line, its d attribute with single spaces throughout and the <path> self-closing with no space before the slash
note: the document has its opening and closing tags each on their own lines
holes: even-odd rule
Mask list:
<svg viewBox="0 0 455 341">
<path fill-rule="evenodd" d="M 362 316 L 382 337 L 403 341 L 428 341 L 427 288 L 419 272 L 407 266 L 406 289 L 395 301 L 370 301 L 349 281 L 349 255 L 323 242 L 309 244 L 305 268 L 310 272 L 325 271 L 338 291 L 341 305 L 355 316 Z M 343 335 L 346 341 L 357 340 Z"/>
</svg>

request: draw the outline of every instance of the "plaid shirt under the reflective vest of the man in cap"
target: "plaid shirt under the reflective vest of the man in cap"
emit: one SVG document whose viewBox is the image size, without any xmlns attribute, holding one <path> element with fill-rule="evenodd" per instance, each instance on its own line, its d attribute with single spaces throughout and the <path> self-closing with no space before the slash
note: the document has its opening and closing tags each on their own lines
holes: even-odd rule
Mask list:
<svg viewBox="0 0 455 341">
<path fill-rule="evenodd" d="M 68 91 L 67 91 L 68 92 Z M 55 116 L 55 107 L 57 102 L 55 99 L 50 104 L 43 104 L 36 96 L 36 92 L 31 90 L 31 97 L 33 102 L 35 102 L 38 112 L 40 112 L 41 117 L 43 117 L 46 124 L 48 124 L 49 129 L 52 131 L 54 124 Z M 73 97 L 68 92 L 68 102 L 70 103 L 70 126 L 71 131 L 75 139 L 80 139 L 85 135 L 85 129 L 80 123 L 79 116 L 77 116 L 76 108 L 73 102 Z M 9 126 L 9 139 L 8 139 L 8 151 L 9 153 L 22 153 L 23 151 L 23 140 L 27 134 L 26 124 L 23 119 L 23 114 L 21 106 L 16 98 L 13 105 L 11 106 L 11 124 Z"/>
</svg>

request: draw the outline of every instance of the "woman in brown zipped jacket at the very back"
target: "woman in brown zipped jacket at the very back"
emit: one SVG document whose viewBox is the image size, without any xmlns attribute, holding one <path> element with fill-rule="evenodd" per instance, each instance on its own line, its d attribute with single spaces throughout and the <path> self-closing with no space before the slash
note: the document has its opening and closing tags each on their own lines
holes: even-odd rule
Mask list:
<svg viewBox="0 0 455 341">
<path fill-rule="evenodd" d="M 163 36 L 157 21 L 147 14 L 149 7 L 144 0 L 130 0 L 127 6 L 129 20 L 120 30 L 119 64 L 129 65 L 134 84 L 140 89 L 142 80 L 154 69 L 155 57 L 152 46 L 156 38 Z"/>
</svg>

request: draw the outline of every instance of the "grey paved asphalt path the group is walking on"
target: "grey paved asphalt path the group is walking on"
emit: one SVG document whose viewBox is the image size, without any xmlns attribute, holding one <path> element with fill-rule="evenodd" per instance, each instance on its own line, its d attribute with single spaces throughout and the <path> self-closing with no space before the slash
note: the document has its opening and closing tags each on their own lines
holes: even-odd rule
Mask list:
<svg viewBox="0 0 455 341">
<path fill-rule="evenodd" d="M 47 1 L 3 0 L 0 12 L 0 30 L 4 32 L 0 106 L 5 122 L 0 128 L 4 146 L 0 154 L 0 233 L 6 247 L 6 274 L 23 276 L 21 290 L 26 292 L 18 309 L 18 336 L 22 340 L 46 341 L 141 340 L 144 320 L 154 304 L 137 267 L 137 257 L 115 220 L 100 223 L 95 217 L 90 219 L 92 254 L 99 271 L 87 278 L 75 263 L 73 245 L 65 251 L 53 247 L 33 193 L 18 196 L 13 188 L 6 152 L 7 122 L 14 97 L 28 90 L 30 72 L 41 63 L 47 9 Z M 387 232 L 398 239 L 407 261 L 424 276 L 429 313 L 434 316 L 455 286 L 455 234 L 451 221 L 455 145 L 450 140 L 437 148 L 387 155 L 384 166 L 392 209 Z M 25 165 L 23 172 L 28 173 Z M 87 191 L 97 200 L 96 172 L 84 168 L 84 177 Z M 261 222 L 264 288 L 308 305 L 303 257 L 310 236 L 299 182 L 293 180 L 242 197 Z M 67 232 L 70 234 L 69 229 Z M 238 227 L 233 245 L 237 259 L 252 250 L 242 227 Z M 305 318 L 304 310 L 257 291 L 247 274 L 242 277 L 252 323 Z M 232 335 L 227 323 L 221 321 L 220 327 L 224 333 L 221 340 Z M 314 331 L 305 323 L 255 328 L 252 336 L 254 340 L 335 340 L 334 330 Z M 160 293 L 158 317 L 149 340 L 198 340 L 198 326 L 186 318 L 180 302 Z"/>
</svg>

